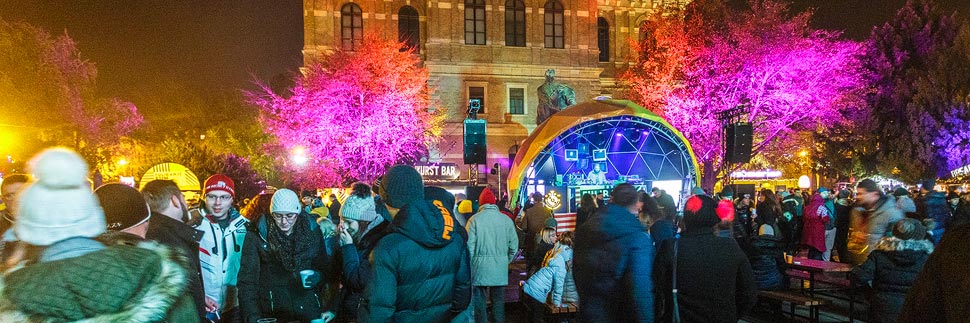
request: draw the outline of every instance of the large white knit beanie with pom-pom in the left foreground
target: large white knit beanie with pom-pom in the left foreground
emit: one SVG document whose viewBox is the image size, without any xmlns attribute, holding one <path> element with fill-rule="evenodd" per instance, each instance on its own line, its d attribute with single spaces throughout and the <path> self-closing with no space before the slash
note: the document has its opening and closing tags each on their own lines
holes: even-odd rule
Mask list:
<svg viewBox="0 0 970 323">
<path fill-rule="evenodd" d="M 88 164 L 73 150 L 50 148 L 28 164 L 34 181 L 17 196 L 13 230 L 35 246 L 74 237 L 93 238 L 105 230 L 104 212 L 87 180 Z"/>
</svg>

